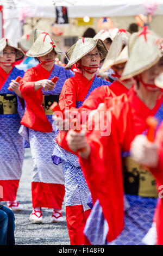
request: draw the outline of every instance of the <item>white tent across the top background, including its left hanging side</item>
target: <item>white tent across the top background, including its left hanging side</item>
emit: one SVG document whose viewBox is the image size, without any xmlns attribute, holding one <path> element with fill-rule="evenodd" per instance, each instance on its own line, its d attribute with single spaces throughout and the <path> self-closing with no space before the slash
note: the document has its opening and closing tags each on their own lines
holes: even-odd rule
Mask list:
<svg viewBox="0 0 163 256">
<path fill-rule="evenodd" d="M 7 4 L 4 4 L 9 2 L 15 2 L 11 9 L 7 8 Z M 22 34 L 19 21 L 22 8 L 29 10 L 29 16 L 33 15 L 34 17 L 48 19 L 55 18 L 55 6 L 67 6 L 68 17 L 70 18 L 84 16 L 96 18 L 127 17 L 141 13 L 145 14 L 144 4 L 146 2 L 147 0 L 0 0 L 0 4 L 4 5 L 4 36 L 14 41 L 15 44 Z M 155 15 L 162 15 L 161 17 L 163 17 L 163 0 L 156 0 L 156 2 L 158 7 L 156 8 Z M 163 19 L 161 22 L 159 20 L 159 23 L 162 24 Z"/>
</svg>

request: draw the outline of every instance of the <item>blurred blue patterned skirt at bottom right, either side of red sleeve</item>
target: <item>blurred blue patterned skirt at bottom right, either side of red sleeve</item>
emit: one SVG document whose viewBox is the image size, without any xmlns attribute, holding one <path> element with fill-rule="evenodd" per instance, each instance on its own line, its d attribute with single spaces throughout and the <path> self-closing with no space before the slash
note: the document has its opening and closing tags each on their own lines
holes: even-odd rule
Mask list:
<svg viewBox="0 0 163 256">
<path fill-rule="evenodd" d="M 130 206 L 125 211 L 124 229 L 112 242 L 106 241 L 109 227 L 97 200 L 84 230 L 92 245 L 145 245 L 142 239 L 152 227 L 158 199 L 134 195 L 126 195 L 126 199 Z"/>
</svg>

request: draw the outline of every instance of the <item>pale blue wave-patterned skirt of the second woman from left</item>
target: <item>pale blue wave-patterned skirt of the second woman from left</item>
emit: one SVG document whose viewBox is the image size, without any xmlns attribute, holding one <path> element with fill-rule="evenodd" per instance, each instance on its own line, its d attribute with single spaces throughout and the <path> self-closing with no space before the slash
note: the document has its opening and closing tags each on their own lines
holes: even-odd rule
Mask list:
<svg viewBox="0 0 163 256">
<path fill-rule="evenodd" d="M 52 115 L 47 116 L 52 124 Z M 54 125 L 54 124 L 53 124 Z M 39 132 L 29 129 L 29 141 L 34 161 L 33 182 L 43 182 L 52 184 L 64 184 L 64 175 L 62 165 L 56 166 L 52 161 L 53 132 Z"/>
</svg>

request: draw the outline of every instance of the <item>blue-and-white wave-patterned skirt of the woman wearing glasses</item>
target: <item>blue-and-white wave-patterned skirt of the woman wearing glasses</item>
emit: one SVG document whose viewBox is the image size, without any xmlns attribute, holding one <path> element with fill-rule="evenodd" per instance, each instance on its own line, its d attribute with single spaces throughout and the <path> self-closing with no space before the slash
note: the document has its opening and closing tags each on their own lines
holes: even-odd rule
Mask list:
<svg viewBox="0 0 163 256">
<path fill-rule="evenodd" d="M 84 211 L 89 210 L 87 200 L 90 195 L 78 157 L 61 148 L 54 139 L 53 162 L 61 161 L 66 189 L 66 206 L 83 205 Z"/>
</svg>

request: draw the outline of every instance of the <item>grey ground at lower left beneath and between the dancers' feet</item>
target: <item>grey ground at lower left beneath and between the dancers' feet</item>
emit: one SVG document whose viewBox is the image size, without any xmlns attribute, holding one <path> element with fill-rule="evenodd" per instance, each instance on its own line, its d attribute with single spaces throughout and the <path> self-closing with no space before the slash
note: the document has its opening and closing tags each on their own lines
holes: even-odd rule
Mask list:
<svg viewBox="0 0 163 256">
<path fill-rule="evenodd" d="M 65 204 L 62 206 L 64 222 L 51 223 L 52 209 L 43 208 L 43 223 L 34 224 L 29 221 L 32 212 L 31 179 L 33 161 L 30 148 L 26 149 L 23 162 L 17 201 L 23 205 L 23 211 L 15 212 L 15 244 L 16 245 L 70 245 L 66 224 Z"/>
</svg>

